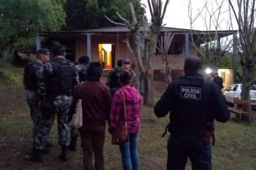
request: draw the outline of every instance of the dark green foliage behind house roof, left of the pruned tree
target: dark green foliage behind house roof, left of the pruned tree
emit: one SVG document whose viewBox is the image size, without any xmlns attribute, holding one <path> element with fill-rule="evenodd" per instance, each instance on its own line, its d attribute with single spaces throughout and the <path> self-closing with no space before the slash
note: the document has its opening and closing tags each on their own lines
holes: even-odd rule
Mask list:
<svg viewBox="0 0 256 170">
<path fill-rule="evenodd" d="M 140 1 L 140 0 L 139 0 Z M 132 0 L 136 4 L 135 12 L 140 18 L 145 10 L 138 0 Z M 66 4 L 66 30 L 84 30 L 111 26 L 102 16 L 107 15 L 120 21 L 116 16 L 118 11 L 125 18 L 131 18 L 129 13 L 129 1 L 127 0 L 67 0 Z"/>
</svg>

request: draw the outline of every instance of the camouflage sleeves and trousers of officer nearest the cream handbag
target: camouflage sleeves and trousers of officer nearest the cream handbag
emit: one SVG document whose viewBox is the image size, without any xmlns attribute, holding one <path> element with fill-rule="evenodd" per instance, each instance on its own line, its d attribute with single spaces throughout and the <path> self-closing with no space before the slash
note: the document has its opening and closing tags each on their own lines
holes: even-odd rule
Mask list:
<svg viewBox="0 0 256 170">
<path fill-rule="evenodd" d="M 55 57 L 56 59 L 57 57 Z M 74 67 L 74 75 L 73 75 L 73 86 L 76 86 L 79 82 L 79 76 L 78 76 L 78 70 L 76 69 L 75 65 L 71 63 L 69 60 L 65 59 L 64 57 L 58 57 L 59 59 L 56 59 L 55 62 L 58 64 L 69 64 Z M 49 79 L 51 79 L 52 75 L 54 74 L 54 67 L 52 65 L 52 60 L 45 64 L 45 80 L 47 80 L 47 89 L 50 89 L 50 84 L 48 84 Z M 55 109 L 57 111 L 57 123 L 58 123 L 58 134 L 59 134 L 59 145 L 62 147 L 67 147 L 69 145 L 69 139 L 68 139 L 68 123 L 67 123 L 67 116 L 69 107 L 71 105 L 72 101 L 72 94 L 67 96 L 64 94 L 56 94 L 52 96 L 52 93 L 49 93 L 47 90 L 47 96 L 51 96 L 54 102 Z M 49 118 L 49 122 L 47 123 L 53 123 L 54 122 L 55 115 L 52 115 Z M 47 129 L 50 131 L 50 128 Z M 43 137 L 45 138 L 45 137 Z M 45 141 L 45 140 L 44 140 Z M 45 144 L 42 144 L 45 145 Z"/>
</svg>

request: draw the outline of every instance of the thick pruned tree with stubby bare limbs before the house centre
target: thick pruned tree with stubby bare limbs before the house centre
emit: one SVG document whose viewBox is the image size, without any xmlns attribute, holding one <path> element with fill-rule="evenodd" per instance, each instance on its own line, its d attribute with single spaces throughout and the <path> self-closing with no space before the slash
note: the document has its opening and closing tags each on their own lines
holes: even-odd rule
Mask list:
<svg viewBox="0 0 256 170">
<path fill-rule="evenodd" d="M 140 91 L 144 96 L 144 105 L 147 106 L 154 105 L 153 62 L 156 55 L 156 43 L 163 26 L 163 17 L 165 16 L 168 3 L 169 0 L 166 0 L 164 5 L 162 1 L 148 0 L 151 22 L 144 22 L 142 33 L 140 31 L 141 26 L 137 21 L 136 13 L 131 2 L 132 20 L 125 19 L 119 13 L 117 13 L 117 16 L 122 20 L 122 23 L 112 21 L 105 16 L 111 23 L 127 26 L 127 28 L 131 30 L 134 43 L 134 54 L 139 71 Z"/>
</svg>

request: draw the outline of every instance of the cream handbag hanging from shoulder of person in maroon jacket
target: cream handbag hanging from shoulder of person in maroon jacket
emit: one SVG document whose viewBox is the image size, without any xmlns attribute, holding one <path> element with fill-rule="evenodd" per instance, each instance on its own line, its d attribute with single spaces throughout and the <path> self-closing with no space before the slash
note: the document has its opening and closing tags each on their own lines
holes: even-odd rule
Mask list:
<svg viewBox="0 0 256 170">
<path fill-rule="evenodd" d="M 83 83 L 83 82 L 82 82 Z M 78 87 L 78 96 L 80 95 L 82 83 Z M 71 122 L 69 122 L 69 127 L 71 128 L 81 128 L 83 126 L 83 108 L 82 99 L 78 99 L 76 102 L 76 108 L 72 116 Z"/>
</svg>

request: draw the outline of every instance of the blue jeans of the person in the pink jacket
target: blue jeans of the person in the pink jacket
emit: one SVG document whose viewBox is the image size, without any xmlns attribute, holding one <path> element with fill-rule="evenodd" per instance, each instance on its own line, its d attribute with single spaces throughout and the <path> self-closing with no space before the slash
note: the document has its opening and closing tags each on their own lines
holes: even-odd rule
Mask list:
<svg viewBox="0 0 256 170">
<path fill-rule="evenodd" d="M 129 141 L 119 145 L 124 170 L 139 170 L 138 137 L 138 132 L 130 133 Z"/>
</svg>

